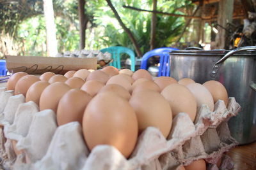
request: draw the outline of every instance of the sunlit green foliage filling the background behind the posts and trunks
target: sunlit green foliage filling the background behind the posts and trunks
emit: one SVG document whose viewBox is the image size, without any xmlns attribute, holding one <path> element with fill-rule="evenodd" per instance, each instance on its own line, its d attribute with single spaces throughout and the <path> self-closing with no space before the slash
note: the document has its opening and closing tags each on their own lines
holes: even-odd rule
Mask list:
<svg viewBox="0 0 256 170">
<path fill-rule="evenodd" d="M 79 49 L 79 20 L 77 0 L 53 0 L 58 51 Z M 150 24 L 152 13 L 123 8 L 134 6 L 145 10 L 152 9 L 152 0 L 111 1 L 138 41 L 141 52 L 150 48 Z M 0 32 L 10 34 L 17 43 L 21 55 L 46 55 L 46 30 L 42 0 L 0 0 Z M 191 6 L 191 1 L 157 1 L 157 10 L 169 13 L 182 12 Z M 108 46 L 127 46 L 134 50 L 131 40 L 120 27 L 113 11 L 105 0 L 86 1 L 86 16 L 89 19 L 86 29 L 86 48 L 101 49 Z M 157 15 L 156 48 L 170 46 L 184 25 L 184 18 Z M 1 42 L 0 42 L 1 43 Z M 1 45 L 0 45 L 1 48 Z"/>
</svg>

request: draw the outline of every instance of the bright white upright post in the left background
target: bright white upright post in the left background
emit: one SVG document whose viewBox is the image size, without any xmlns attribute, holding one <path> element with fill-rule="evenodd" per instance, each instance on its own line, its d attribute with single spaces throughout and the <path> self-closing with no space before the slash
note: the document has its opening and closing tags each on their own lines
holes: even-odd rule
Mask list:
<svg viewBox="0 0 256 170">
<path fill-rule="evenodd" d="M 44 16 L 46 25 L 47 55 L 54 57 L 58 53 L 58 48 L 52 0 L 44 0 Z"/>
</svg>

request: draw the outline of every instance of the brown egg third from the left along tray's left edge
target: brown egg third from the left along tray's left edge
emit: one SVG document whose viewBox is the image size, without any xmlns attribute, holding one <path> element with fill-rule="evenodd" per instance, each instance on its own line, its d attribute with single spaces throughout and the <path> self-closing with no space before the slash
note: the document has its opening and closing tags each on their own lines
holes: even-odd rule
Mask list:
<svg viewBox="0 0 256 170">
<path fill-rule="evenodd" d="M 39 105 L 40 96 L 48 85 L 50 85 L 48 81 L 37 81 L 33 83 L 26 94 L 26 102 L 33 101 Z"/>
</svg>

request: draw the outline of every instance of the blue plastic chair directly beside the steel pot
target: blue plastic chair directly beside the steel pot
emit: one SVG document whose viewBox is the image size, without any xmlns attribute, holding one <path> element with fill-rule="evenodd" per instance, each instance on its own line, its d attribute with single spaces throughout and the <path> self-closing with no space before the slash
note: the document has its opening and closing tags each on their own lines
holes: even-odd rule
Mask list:
<svg viewBox="0 0 256 170">
<path fill-rule="evenodd" d="M 141 69 L 147 69 L 147 62 L 150 57 L 159 56 L 160 57 L 160 66 L 157 76 L 170 76 L 170 52 L 173 50 L 179 50 L 172 47 L 163 47 L 156 48 L 145 53 L 141 60 Z"/>
</svg>

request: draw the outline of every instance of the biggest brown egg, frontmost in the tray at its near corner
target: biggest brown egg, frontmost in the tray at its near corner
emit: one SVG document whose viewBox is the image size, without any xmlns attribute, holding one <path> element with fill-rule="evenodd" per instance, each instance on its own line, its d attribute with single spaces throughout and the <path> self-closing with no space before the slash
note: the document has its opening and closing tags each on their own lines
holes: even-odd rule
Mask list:
<svg viewBox="0 0 256 170">
<path fill-rule="evenodd" d="M 100 93 L 84 111 L 83 134 L 90 150 L 97 145 L 112 145 L 127 158 L 137 141 L 136 114 L 123 97 L 114 92 Z"/>
</svg>

